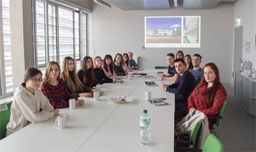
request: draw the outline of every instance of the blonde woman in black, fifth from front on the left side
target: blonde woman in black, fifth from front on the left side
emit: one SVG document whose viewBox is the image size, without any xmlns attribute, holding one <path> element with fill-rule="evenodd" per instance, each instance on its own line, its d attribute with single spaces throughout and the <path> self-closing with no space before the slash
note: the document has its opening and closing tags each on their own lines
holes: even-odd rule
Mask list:
<svg viewBox="0 0 256 152">
<path fill-rule="evenodd" d="M 108 78 L 102 69 L 102 59 L 100 56 L 95 56 L 93 60 L 93 73 L 95 74 L 96 83 L 102 85 L 103 83 L 116 83 L 116 79 Z"/>
</svg>

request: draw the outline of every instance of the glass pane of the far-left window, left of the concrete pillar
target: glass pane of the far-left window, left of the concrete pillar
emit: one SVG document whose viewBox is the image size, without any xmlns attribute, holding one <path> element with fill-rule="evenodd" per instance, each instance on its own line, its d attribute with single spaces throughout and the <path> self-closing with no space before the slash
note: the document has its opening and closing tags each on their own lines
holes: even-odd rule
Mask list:
<svg viewBox="0 0 256 152">
<path fill-rule="evenodd" d="M 10 2 L 2 1 L 3 8 L 3 49 L 5 54 L 5 87 L 6 93 L 13 92 L 12 84 L 12 56 L 11 56 L 11 28 L 10 28 Z"/>
</svg>

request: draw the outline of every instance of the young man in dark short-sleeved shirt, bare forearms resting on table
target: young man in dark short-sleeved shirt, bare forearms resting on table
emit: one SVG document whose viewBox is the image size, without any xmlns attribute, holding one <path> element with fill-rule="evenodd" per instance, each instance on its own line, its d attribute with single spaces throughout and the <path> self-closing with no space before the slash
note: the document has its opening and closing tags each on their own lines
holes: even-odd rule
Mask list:
<svg viewBox="0 0 256 152">
<path fill-rule="evenodd" d="M 167 63 L 169 64 L 168 67 L 168 74 L 169 75 L 161 75 L 162 80 L 169 80 L 169 81 L 177 81 L 179 74 L 177 73 L 175 66 L 174 66 L 174 61 L 175 61 L 175 56 L 172 53 L 168 53 L 166 55 Z"/>
</svg>

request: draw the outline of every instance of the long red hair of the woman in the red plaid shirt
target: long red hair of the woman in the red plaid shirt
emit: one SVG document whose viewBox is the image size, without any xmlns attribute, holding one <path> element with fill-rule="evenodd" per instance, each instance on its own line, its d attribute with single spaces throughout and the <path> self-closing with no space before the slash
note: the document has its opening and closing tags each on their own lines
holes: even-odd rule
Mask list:
<svg viewBox="0 0 256 152">
<path fill-rule="evenodd" d="M 213 104 L 213 100 L 215 98 L 215 94 L 217 93 L 217 90 L 219 89 L 219 84 L 221 84 L 221 82 L 219 81 L 219 69 L 218 67 L 213 64 L 213 63 L 209 63 L 209 64 L 206 64 L 204 67 L 203 67 L 203 71 L 205 69 L 205 67 L 211 67 L 211 69 L 213 69 L 213 72 L 215 73 L 216 77 L 215 77 L 215 80 L 213 82 L 213 86 L 211 86 L 211 88 L 205 90 L 200 96 L 202 96 L 203 98 L 205 98 L 206 102 L 209 102 L 211 105 Z M 198 86 L 196 86 L 193 94 L 192 94 L 192 100 L 194 100 L 194 97 L 195 97 L 195 93 L 196 91 L 201 88 L 202 86 L 207 86 L 208 83 L 207 81 L 205 81 L 205 77 L 203 77 L 202 81 L 198 84 Z"/>
</svg>

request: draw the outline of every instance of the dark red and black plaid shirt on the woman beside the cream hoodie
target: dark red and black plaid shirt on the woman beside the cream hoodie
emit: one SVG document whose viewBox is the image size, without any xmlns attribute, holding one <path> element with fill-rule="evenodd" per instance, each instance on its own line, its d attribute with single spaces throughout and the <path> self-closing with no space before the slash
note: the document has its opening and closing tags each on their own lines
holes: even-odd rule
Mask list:
<svg viewBox="0 0 256 152">
<path fill-rule="evenodd" d="M 58 80 L 58 85 L 52 86 L 49 83 L 42 83 L 41 91 L 49 99 L 54 109 L 70 107 L 69 100 L 74 98 L 68 92 L 68 88 L 62 79 Z M 75 98 L 77 100 L 77 98 Z"/>
</svg>

